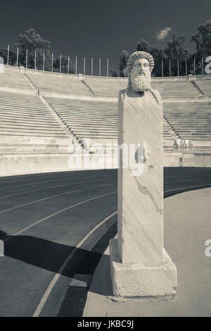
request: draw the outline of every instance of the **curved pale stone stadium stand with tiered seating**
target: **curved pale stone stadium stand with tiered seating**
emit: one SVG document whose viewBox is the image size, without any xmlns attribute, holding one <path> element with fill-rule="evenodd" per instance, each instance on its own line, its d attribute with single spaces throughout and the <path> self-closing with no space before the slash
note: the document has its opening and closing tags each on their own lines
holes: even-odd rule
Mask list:
<svg viewBox="0 0 211 331">
<path fill-rule="evenodd" d="M 152 87 L 160 91 L 163 101 L 165 165 L 181 165 L 184 154 L 194 154 L 196 165 L 210 165 L 210 82 L 210 75 L 152 78 Z M 117 95 L 126 85 L 127 79 L 121 77 L 65 75 L 4 65 L 0 82 L 3 174 L 14 161 L 20 166 L 11 175 L 23 173 L 19 173 L 22 163 L 27 173 L 49 172 L 53 167 L 70 170 L 70 145 L 82 151 L 87 138 L 102 146 L 116 143 Z"/>
</svg>

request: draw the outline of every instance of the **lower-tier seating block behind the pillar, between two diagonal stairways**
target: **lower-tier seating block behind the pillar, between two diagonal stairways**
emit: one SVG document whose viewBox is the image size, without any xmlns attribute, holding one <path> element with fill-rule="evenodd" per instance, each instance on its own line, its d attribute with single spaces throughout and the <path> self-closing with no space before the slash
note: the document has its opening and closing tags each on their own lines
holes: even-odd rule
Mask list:
<svg viewBox="0 0 211 331">
<path fill-rule="evenodd" d="M 117 102 L 46 97 L 63 122 L 79 140 L 91 139 L 93 143 L 117 142 Z M 164 118 L 163 138 L 177 139 Z M 172 145 L 172 144 L 171 144 Z M 169 146 L 170 147 L 170 146 Z"/>
</svg>

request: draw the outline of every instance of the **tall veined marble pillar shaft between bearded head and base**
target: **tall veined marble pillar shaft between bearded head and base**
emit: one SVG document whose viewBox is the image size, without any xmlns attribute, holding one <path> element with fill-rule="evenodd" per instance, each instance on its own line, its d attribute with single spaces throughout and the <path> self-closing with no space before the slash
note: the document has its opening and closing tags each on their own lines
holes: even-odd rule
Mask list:
<svg viewBox="0 0 211 331">
<path fill-rule="evenodd" d="M 118 170 L 118 249 L 122 263 L 160 266 L 163 249 L 162 104 L 151 92 L 119 96 L 119 144 L 146 144 L 143 173 Z M 134 159 L 136 156 L 134 155 Z M 136 160 L 137 161 L 137 160 Z M 138 164 L 136 164 L 138 165 Z M 140 168 L 141 169 L 141 168 Z"/>
</svg>

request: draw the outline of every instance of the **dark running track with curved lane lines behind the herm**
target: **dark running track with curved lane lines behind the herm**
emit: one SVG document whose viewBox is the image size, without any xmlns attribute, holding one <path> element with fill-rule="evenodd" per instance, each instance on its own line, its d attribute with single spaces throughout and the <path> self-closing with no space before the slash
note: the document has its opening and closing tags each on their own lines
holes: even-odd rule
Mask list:
<svg viewBox="0 0 211 331">
<path fill-rule="evenodd" d="M 165 197 L 203 187 L 211 168 L 165 168 Z M 91 275 L 115 236 L 117 170 L 0 177 L 0 202 L 0 316 L 58 316 L 87 252 Z"/>
</svg>

